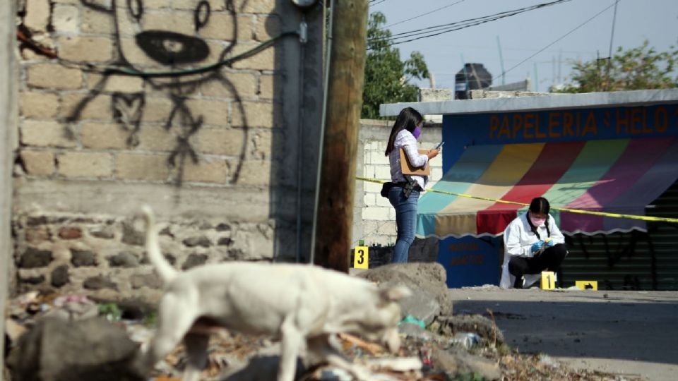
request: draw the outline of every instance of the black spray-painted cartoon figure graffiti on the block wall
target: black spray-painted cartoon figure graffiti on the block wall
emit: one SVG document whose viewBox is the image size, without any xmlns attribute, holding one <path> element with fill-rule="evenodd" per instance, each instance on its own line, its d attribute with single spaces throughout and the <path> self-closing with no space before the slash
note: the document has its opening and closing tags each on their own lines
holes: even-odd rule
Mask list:
<svg viewBox="0 0 678 381">
<path fill-rule="evenodd" d="M 163 28 L 157 28 L 157 10 L 145 9 L 143 0 L 81 0 L 85 6 L 95 11 L 107 13 L 114 21 L 112 30 L 116 36 L 117 54 L 107 63 L 108 67 L 129 68 L 134 75 L 143 78 L 145 89 L 143 92 L 114 92 L 112 94 L 112 111 L 114 119 L 121 128 L 128 133 L 127 143 L 131 146 L 139 144 L 139 131 L 143 121 L 148 92 L 157 92 L 169 99 L 171 107 L 165 119 L 165 130 L 174 128 L 176 145 L 169 155 L 168 164 L 179 169 L 177 183 L 183 179 L 186 160 L 198 163 L 198 152 L 191 144 L 194 136 L 205 123 L 203 115 L 198 115 L 189 107 L 187 99 L 194 95 L 200 85 L 210 81 L 217 81 L 232 95 L 232 105 L 237 107 L 244 129 L 243 140 L 237 164 L 230 176 L 230 182 L 236 183 L 246 155 L 246 143 L 249 139 L 248 123 L 242 98 L 235 85 L 220 70 L 215 63 L 222 61 L 234 49 L 238 37 L 238 18 L 233 0 L 192 0 L 193 25 L 192 30 L 172 30 L 177 25 L 162 23 Z M 190 0 L 189 0 L 190 1 Z M 244 4 L 243 4 L 244 6 Z M 218 9 L 226 14 L 229 23 L 225 27 L 231 28 L 232 40 L 222 40 L 212 44 L 201 36 L 201 30 L 213 23 L 224 23 L 224 19 L 213 17 L 213 11 Z M 147 22 L 148 21 L 148 22 Z M 133 38 L 130 38 L 133 31 Z M 193 35 L 189 35 L 193 32 Z M 220 51 L 215 52 L 216 49 Z M 85 63 L 86 64 L 86 63 Z M 196 66 L 210 67 L 209 71 L 194 71 Z M 169 71 L 169 75 L 143 75 L 150 71 Z M 117 72 L 116 74 L 119 74 Z M 71 123 L 81 119 L 85 107 L 96 97 L 105 92 L 105 87 L 114 73 L 104 72 L 102 78 L 93 87 L 93 90 L 82 99 L 71 114 L 66 117 L 67 135 L 74 138 Z"/>
</svg>

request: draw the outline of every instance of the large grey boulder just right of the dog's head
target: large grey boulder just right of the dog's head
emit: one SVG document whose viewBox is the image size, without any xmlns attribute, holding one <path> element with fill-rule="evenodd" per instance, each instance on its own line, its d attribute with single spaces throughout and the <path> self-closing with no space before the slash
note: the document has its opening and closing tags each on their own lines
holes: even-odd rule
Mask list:
<svg viewBox="0 0 678 381">
<path fill-rule="evenodd" d="M 384 286 L 388 284 L 404 284 L 410 287 L 415 296 L 422 299 L 422 301 L 436 301 L 441 315 L 451 315 L 452 313 L 452 298 L 446 284 L 446 272 L 440 263 L 393 263 L 362 272 L 357 276 L 371 282 L 383 284 Z M 408 301 L 408 299 L 405 299 L 403 303 L 409 304 L 401 304 L 403 309 L 408 306 L 415 306 L 415 301 Z M 427 315 L 432 313 L 432 309 L 435 306 L 423 303 L 421 308 L 424 308 L 424 310 L 421 310 L 420 314 Z M 412 315 L 417 316 L 414 313 Z M 422 317 L 419 318 L 424 320 Z"/>
</svg>

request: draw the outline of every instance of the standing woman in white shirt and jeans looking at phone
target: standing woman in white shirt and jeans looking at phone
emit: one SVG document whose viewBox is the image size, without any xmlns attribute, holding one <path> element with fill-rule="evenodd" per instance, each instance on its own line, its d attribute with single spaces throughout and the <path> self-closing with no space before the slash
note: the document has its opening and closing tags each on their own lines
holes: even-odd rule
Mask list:
<svg viewBox="0 0 678 381">
<path fill-rule="evenodd" d="M 419 111 L 407 107 L 400 111 L 396 123 L 393 123 L 391 135 L 388 137 L 386 153 L 391 163 L 391 181 L 393 187 L 388 191 L 388 200 L 396 208 L 396 226 L 398 238 L 393 250 L 393 262 L 408 262 L 410 246 L 415 241 L 417 226 L 417 202 L 419 193 L 426 188 L 429 176 L 403 175 L 400 169 L 400 148 L 413 167 L 427 167 L 429 159 L 438 155 L 439 150 L 430 150 L 427 155 L 420 155 L 417 150 L 417 138 L 422 133 L 424 118 Z"/>
</svg>

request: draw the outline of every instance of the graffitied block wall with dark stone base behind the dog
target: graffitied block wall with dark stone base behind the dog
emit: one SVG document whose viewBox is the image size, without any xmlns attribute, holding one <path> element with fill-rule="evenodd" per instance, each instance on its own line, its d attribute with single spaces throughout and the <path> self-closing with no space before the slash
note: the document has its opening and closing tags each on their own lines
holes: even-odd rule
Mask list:
<svg viewBox="0 0 678 381">
<path fill-rule="evenodd" d="M 143 77 L 119 69 L 215 65 L 298 30 L 302 11 L 289 0 L 22 4 L 13 291 L 157 295 L 134 222 L 143 204 L 177 267 L 307 254 L 321 5 L 305 13 L 307 44 L 287 35 L 200 73 Z"/>
</svg>

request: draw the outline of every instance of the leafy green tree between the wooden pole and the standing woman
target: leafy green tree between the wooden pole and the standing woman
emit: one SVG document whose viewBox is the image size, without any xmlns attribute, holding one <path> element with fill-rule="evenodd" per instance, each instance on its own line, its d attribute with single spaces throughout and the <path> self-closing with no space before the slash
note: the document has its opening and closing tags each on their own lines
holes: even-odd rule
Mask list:
<svg viewBox="0 0 678 381">
<path fill-rule="evenodd" d="M 379 118 L 379 104 L 417 102 L 417 86 L 409 80 L 429 78 L 420 52 L 412 52 L 409 59 L 400 61 L 400 51 L 388 42 L 391 31 L 383 29 L 384 24 L 383 13 L 374 12 L 369 16 L 361 112 L 361 117 L 366 119 Z"/>
</svg>

